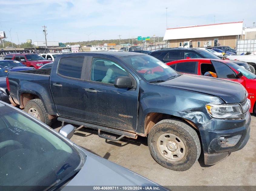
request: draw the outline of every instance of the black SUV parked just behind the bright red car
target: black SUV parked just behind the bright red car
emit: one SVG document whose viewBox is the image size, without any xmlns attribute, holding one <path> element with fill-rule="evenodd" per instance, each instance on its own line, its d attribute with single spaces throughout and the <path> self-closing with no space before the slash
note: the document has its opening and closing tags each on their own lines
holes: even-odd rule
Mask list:
<svg viewBox="0 0 256 191">
<path fill-rule="evenodd" d="M 205 51 L 203 49 L 192 49 L 192 48 L 169 48 L 169 49 L 161 49 L 158 51 L 151 52 L 150 56 L 154 56 L 158 60 L 162 62 L 171 62 L 175 60 L 181 59 L 196 59 L 196 58 L 208 58 L 208 59 L 220 59 L 218 56 Z M 250 71 L 250 67 L 246 62 L 231 60 L 235 64 L 243 66 L 243 68 Z"/>
</svg>

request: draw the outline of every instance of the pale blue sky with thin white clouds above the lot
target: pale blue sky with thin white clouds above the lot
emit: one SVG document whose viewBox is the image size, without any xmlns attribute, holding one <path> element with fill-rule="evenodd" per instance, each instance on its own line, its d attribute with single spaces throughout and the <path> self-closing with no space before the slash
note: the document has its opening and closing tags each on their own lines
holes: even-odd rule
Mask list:
<svg viewBox="0 0 256 191">
<path fill-rule="evenodd" d="M 251 27 L 254 0 L 0 0 L 0 30 L 14 43 L 163 37 L 169 28 L 243 21 Z M 256 25 L 255 25 L 256 26 Z M 18 33 L 18 37 L 17 37 Z"/>
</svg>

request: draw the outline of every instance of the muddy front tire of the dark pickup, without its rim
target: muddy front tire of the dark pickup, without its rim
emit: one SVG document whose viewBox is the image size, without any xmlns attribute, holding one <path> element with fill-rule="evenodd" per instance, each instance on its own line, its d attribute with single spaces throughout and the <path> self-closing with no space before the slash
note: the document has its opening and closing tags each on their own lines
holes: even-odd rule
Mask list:
<svg viewBox="0 0 256 191">
<path fill-rule="evenodd" d="M 165 133 L 172 133 L 178 136 L 185 145 L 185 156 L 179 161 L 166 159 L 157 147 L 158 137 Z M 151 156 L 161 166 L 176 170 L 184 171 L 190 169 L 198 160 L 201 153 L 200 140 L 196 131 L 178 119 L 164 119 L 156 123 L 148 134 L 148 147 Z"/>
</svg>

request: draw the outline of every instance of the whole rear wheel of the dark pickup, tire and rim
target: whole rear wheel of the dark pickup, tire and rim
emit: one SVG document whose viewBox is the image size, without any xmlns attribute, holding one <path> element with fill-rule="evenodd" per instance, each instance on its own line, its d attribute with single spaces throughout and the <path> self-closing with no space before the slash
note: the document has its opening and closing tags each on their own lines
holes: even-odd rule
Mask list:
<svg viewBox="0 0 256 191">
<path fill-rule="evenodd" d="M 48 126 L 52 125 L 52 119 L 49 119 L 48 113 L 46 113 L 42 100 L 33 99 L 26 103 L 24 111 L 36 119 L 42 121 Z"/>
</svg>

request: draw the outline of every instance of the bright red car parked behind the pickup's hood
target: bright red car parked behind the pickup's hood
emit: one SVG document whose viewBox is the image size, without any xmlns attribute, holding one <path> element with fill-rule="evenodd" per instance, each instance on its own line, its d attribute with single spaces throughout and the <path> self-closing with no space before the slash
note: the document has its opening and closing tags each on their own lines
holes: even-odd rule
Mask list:
<svg viewBox="0 0 256 191">
<path fill-rule="evenodd" d="M 168 62 L 166 64 L 177 72 L 196 75 L 209 75 L 209 73 L 213 73 L 212 76 L 217 75 L 217 78 L 231 80 L 242 84 L 248 91 L 248 98 L 251 100 L 250 113 L 256 112 L 256 75 L 230 60 L 183 59 Z"/>
</svg>

